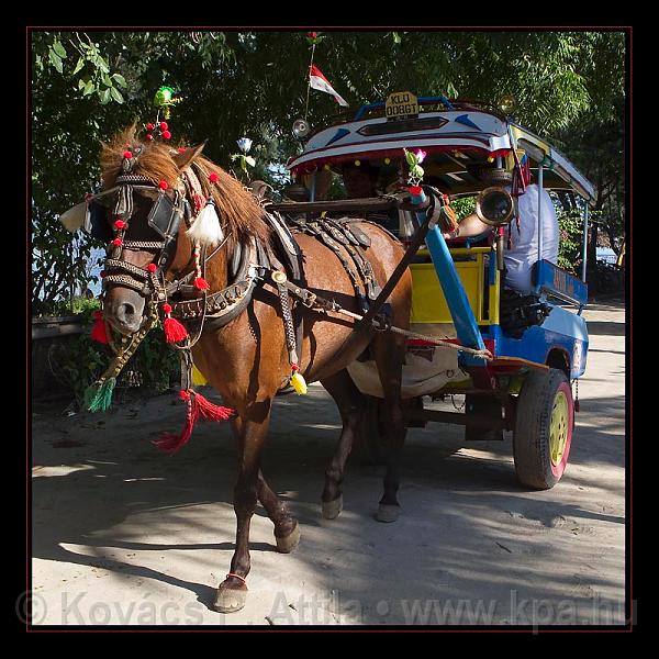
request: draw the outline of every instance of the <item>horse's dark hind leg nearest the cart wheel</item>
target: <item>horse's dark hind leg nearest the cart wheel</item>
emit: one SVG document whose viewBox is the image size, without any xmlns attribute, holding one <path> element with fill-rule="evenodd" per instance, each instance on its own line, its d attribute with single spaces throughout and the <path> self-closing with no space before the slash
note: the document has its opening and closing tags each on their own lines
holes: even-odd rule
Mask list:
<svg viewBox="0 0 659 659">
<path fill-rule="evenodd" d="M 396 496 L 400 483 L 399 462 L 406 434 L 401 401 L 405 349 L 406 337 L 398 334 L 381 335 L 373 342 L 378 373 L 384 391 L 384 405 L 381 409 L 384 413 L 388 449 L 384 493 L 376 515 L 378 522 L 395 522 L 400 513 Z"/>
</svg>

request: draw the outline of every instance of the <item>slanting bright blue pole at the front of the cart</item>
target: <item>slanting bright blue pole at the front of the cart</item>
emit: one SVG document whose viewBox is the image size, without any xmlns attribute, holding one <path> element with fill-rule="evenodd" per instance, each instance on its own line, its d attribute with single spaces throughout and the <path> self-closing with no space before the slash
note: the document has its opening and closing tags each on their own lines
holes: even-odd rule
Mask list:
<svg viewBox="0 0 659 659">
<path fill-rule="evenodd" d="M 423 203 L 425 200 L 426 196 L 423 190 L 421 194 L 412 194 L 412 203 L 415 205 Z M 425 211 L 417 212 L 416 215 L 423 224 L 425 221 Z M 450 316 L 456 326 L 458 338 L 463 346 L 483 350 L 485 348 L 483 337 L 478 328 L 478 323 L 476 322 L 473 311 L 471 311 L 471 305 L 469 304 L 462 282 L 456 271 L 446 241 L 437 225 L 428 230 L 425 241 L 431 253 L 431 259 L 435 266 L 437 279 L 446 298 Z M 471 359 L 468 355 L 463 355 L 463 358 Z M 477 359 L 478 364 L 481 361 L 481 359 Z"/>
</svg>

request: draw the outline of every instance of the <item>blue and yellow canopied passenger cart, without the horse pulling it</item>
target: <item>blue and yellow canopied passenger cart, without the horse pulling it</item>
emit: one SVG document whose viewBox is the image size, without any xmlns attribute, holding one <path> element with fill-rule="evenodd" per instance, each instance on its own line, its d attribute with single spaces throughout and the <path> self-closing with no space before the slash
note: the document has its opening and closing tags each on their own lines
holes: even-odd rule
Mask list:
<svg viewBox="0 0 659 659">
<path fill-rule="evenodd" d="M 429 187 L 401 203 L 396 192 L 407 190 L 410 171 L 405 152 L 415 149 L 425 152 L 423 182 Z M 474 176 L 481 166 L 489 176 Z M 346 213 L 365 215 L 409 246 L 413 303 L 402 386 L 407 426 L 432 421 L 463 425 L 466 442 L 503 439 L 503 431 L 512 431 L 520 481 L 535 489 L 555 485 L 572 442 L 578 409 L 572 386 L 583 375 L 588 355 L 581 316 L 588 299 L 585 267 L 579 278 L 541 258 L 538 203 L 533 289 L 514 294 L 504 286 L 503 257 L 510 246 L 504 226 L 511 225 L 514 239 L 518 198 L 554 190 L 581 205 L 585 248 L 592 185 L 545 139 L 499 111 L 443 97 L 416 99 L 409 92 L 361 107 L 350 120 L 315 132 L 288 168 L 295 181 L 289 196 L 298 201 L 275 204 L 273 210 L 303 214 L 310 223 Z M 361 197 L 368 193 L 370 179 L 378 196 L 324 200 L 334 172 L 344 175 L 348 193 L 350 188 Z M 366 187 L 355 188 L 347 180 L 355 172 Z M 525 190 L 529 175 L 537 180 L 537 192 Z M 445 239 L 439 224 L 428 223 L 428 203 L 437 192 L 454 200 L 476 198 L 479 217 L 492 227 L 490 235 Z M 371 317 L 384 298 L 376 302 L 377 309 L 371 306 Z M 348 371 L 377 405 L 382 394 L 375 364 L 356 361 Z M 462 413 L 424 406 L 424 400 L 455 394 L 466 395 Z M 378 442 L 377 433 L 371 440 Z"/>
</svg>

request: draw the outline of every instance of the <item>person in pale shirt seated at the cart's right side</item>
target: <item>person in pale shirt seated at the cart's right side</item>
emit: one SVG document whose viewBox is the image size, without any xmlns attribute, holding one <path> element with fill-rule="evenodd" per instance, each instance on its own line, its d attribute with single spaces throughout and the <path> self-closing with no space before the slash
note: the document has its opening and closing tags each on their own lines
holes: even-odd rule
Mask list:
<svg viewBox="0 0 659 659">
<path fill-rule="evenodd" d="M 510 188 L 506 189 L 510 191 Z M 510 237 L 511 248 L 503 252 L 506 269 L 504 284 L 520 293 L 532 291 L 530 271 L 533 264 L 538 260 L 538 191 L 539 188 L 535 183 L 526 186 L 525 193 L 517 198 L 520 222 L 513 219 L 506 227 L 504 242 L 507 245 Z M 556 209 L 547 190 L 543 189 L 539 201 L 543 223 L 540 258 L 556 264 L 558 261 Z M 444 234 L 444 237 L 467 238 L 478 236 L 488 230 L 492 227 L 473 213 L 465 217 L 454 232 Z"/>
</svg>

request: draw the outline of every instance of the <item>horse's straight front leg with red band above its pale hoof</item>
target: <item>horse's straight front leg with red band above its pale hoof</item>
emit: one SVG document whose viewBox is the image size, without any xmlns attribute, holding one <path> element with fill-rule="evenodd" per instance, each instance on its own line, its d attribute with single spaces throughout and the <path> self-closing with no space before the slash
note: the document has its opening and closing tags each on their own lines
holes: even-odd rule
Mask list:
<svg viewBox="0 0 659 659">
<path fill-rule="evenodd" d="M 234 488 L 236 548 L 226 579 L 217 589 L 215 608 L 232 613 L 245 606 L 249 573 L 249 523 L 258 498 L 260 455 L 270 423 L 271 401 L 252 404 L 243 415 L 238 438 L 238 479 Z"/>
</svg>

